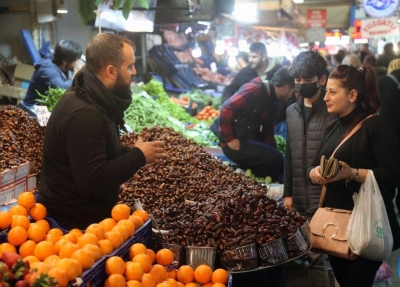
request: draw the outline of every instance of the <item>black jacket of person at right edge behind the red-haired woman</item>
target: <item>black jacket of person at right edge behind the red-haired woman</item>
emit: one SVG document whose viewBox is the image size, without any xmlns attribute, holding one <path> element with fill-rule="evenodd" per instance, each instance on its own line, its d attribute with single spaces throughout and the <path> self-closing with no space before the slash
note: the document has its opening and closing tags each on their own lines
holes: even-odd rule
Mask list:
<svg viewBox="0 0 400 287">
<path fill-rule="evenodd" d="M 400 82 L 400 70 L 391 73 Z M 382 98 L 382 109 L 379 114 L 385 117 L 392 125 L 400 151 L 400 89 L 388 76 L 378 78 L 379 92 Z"/>
</svg>

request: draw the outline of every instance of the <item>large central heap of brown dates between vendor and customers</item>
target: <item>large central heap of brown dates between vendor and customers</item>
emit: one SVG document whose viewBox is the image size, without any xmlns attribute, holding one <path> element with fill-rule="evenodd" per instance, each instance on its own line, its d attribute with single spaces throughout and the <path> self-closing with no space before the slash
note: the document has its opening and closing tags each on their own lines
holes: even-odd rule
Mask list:
<svg viewBox="0 0 400 287">
<path fill-rule="evenodd" d="M 267 188 L 236 173 L 201 146 L 170 128 L 144 129 L 121 140 L 134 146 L 161 140 L 168 158 L 140 169 L 121 186 L 120 200 L 133 207 L 139 199 L 164 240 L 183 246 L 231 250 L 292 236 L 306 221 L 267 196 Z"/>
</svg>

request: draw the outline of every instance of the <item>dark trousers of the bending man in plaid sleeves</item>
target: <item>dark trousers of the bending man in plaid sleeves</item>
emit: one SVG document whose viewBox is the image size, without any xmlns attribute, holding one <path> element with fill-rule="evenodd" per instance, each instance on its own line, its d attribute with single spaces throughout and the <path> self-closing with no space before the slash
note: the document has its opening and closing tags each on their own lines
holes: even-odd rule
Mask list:
<svg viewBox="0 0 400 287">
<path fill-rule="evenodd" d="M 238 151 L 223 147 L 225 156 L 243 170 L 251 169 L 256 177 L 272 177 L 283 182 L 283 155 L 276 148 L 258 141 L 241 142 Z"/>
</svg>

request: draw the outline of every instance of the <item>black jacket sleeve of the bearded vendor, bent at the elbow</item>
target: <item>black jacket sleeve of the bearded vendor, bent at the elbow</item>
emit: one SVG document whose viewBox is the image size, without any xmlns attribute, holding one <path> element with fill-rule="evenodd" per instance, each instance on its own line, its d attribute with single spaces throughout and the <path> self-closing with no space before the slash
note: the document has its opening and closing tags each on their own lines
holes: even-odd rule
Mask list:
<svg viewBox="0 0 400 287">
<path fill-rule="evenodd" d="M 88 193 L 95 194 L 100 187 L 124 183 L 146 163 L 138 148 L 107 158 L 110 130 L 97 111 L 75 112 L 64 123 L 62 131 L 74 180 Z"/>
</svg>

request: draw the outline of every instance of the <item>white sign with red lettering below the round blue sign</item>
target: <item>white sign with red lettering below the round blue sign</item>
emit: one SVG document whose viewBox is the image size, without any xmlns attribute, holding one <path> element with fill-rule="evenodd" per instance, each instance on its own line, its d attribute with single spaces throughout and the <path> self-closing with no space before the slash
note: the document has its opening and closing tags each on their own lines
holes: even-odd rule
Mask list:
<svg viewBox="0 0 400 287">
<path fill-rule="evenodd" d="M 397 36 L 399 34 L 399 25 L 396 21 L 397 17 L 361 20 L 361 37 L 368 39 L 372 37 Z"/>
</svg>

